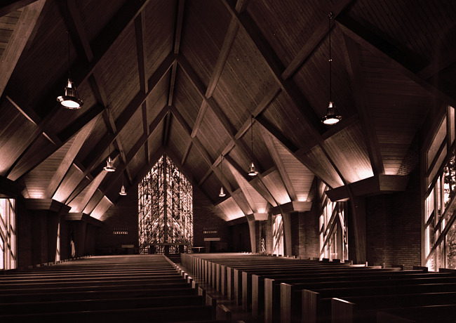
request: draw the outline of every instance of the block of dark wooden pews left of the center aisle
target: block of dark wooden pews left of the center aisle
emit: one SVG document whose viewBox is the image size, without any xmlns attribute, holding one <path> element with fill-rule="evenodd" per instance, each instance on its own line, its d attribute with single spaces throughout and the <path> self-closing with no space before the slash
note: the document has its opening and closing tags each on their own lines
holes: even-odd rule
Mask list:
<svg viewBox="0 0 456 323">
<path fill-rule="evenodd" d="M 89 257 L 3 274 L 0 322 L 231 322 L 162 255 Z"/>
</svg>

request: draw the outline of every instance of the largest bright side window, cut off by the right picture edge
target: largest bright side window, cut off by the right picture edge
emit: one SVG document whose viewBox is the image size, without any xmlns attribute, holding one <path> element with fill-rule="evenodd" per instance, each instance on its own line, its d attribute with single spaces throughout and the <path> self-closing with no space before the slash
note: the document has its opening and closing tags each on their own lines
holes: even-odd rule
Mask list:
<svg viewBox="0 0 456 323">
<path fill-rule="evenodd" d="M 425 152 L 424 251 L 429 270 L 456 269 L 455 109 L 448 107 Z"/>
</svg>

